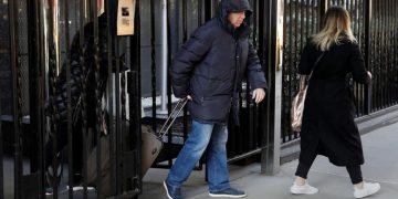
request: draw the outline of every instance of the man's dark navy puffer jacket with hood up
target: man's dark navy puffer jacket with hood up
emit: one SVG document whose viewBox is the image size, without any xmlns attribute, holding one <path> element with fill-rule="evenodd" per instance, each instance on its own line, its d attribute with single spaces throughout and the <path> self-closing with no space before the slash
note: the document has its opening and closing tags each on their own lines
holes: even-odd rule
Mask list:
<svg viewBox="0 0 398 199">
<path fill-rule="evenodd" d="M 245 11 L 240 28 L 229 23 L 230 11 Z M 251 90 L 266 88 L 260 60 L 248 40 L 251 14 L 247 0 L 222 0 L 218 17 L 198 28 L 176 54 L 170 69 L 174 93 L 177 97 L 191 95 L 188 107 L 195 119 L 226 123 L 244 76 Z M 234 100 L 234 107 L 237 103 Z"/>
</svg>

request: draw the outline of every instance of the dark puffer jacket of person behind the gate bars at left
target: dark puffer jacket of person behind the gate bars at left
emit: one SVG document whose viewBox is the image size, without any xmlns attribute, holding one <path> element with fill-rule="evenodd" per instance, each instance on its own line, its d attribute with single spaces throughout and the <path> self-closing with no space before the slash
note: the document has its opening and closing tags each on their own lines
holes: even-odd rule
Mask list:
<svg viewBox="0 0 398 199">
<path fill-rule="evenodd" d="M 94 45 L 94 25 L 93 22 L 90 22 L 84 25 L 84 48 L 85 53 L 82 56 L 81 48 L 80 48 L 80 33 L 76 32 L 73 38 L 71 45 L 71 81 L 69 84 L 71 85 L 71 97 L 72 97 L 72 108 L 74 109 L 76 103 L 82 94 L 82 65 L 81 57 L 84 57 L 84 64 L 86 65 L 86 72 L 83 74 L 84 81 L 86 83 L 86 108 L 87 108 L 87 119 L 88 123 L 95 123 L 95 107 L 96 107 L 96 97 L 95 97 L 95 87 L 100 85 L 100 95 L 102 95 L 103 91 L 106 86 L 107 81 L 107 35 L 106 35 L 106 14 L 102 14 L 98 18 L 98 51 L 100 51 L 100 82 L 95 81 L 95 45 Z M 56 119 L 60 123 L 66 121 L 66 71 L 65 65 L 62 67 L 61 74 L 57 78 L 57 87 L 56 87 Z"/>
</svg>

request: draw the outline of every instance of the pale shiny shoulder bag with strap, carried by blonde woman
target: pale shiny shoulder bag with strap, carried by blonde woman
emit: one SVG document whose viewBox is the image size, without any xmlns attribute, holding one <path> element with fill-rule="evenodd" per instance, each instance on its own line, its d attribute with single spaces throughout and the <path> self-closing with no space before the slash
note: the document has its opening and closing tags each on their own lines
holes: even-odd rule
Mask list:
<svg viewBox="0 0 398 199">
<path fill-rule="evenodd" d="M 323 57 L 323 55 L 324 55 L 324 53 L 322 53 L 320 55 L 320 57 L 316 60 L 316 62 L 314 63 L 313 70 L 311 71 L 311 74 L 308 75 L 308 82 L 310 82 L 310 78 L 311 78 L 317 63 Z M 307 86 L 308 86 L 308 84 L 305 85 L 305 82 L 306 82 L 305 78 L 306 78 L 306 75 L 300 75 L 300 90 L 298 90 L 298 93 L 294 96 L 293 102 L 292 102 L 291 125 L 292 125 L 292 129 L 294 132 L 301 132 L 301 127 L 302 127 L 304 102 L 305 102 L 306 91 L 307 91 Z"/>
</svg>

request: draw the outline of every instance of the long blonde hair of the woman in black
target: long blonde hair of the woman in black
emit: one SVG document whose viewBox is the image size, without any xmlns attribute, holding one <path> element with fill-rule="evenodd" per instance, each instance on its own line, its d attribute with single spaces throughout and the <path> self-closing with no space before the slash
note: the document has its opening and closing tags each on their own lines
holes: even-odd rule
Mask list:
<svg viewBox="0 0 398 199">
<path fill-rule="evenodd" d="M 321 51 L 327 51 L 333 44 L 339 44 L 342 40 L 356 42 L 350 29 L 350 19 L 343 7 L 331 7 L 325 13 L 323 28 L 313 35 L 313 43 Z"/>
</svg>

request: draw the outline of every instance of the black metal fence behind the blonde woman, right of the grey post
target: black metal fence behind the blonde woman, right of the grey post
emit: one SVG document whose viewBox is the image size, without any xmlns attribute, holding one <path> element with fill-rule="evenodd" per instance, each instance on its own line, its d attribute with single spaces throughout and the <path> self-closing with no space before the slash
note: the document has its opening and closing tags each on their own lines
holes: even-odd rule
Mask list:
<svg viewBox="0 0 398 199">
<path fill-rule="evenodd" d="M 301 50 L 305 44 L 305 38 L 317 31 L 320 19 L 324 12 L 322 8 L 326 8 L 325 3 L 328 7 L 341 6 L 348 10 L 354 35 L 363 51 L 366 66 L 374 75 L 370 86 L 354 84 L 356 116 L 366 116 L 398 103 L 398 44 L 396 40 L 398 3 L 396 1 L 285 0 L 282 143 L 296 139 L 300 136 L 290 128 L 291 102 L 297 90 L 296 66 Z M 307 18 L 312 20 L 306 21 Z"/>
</svg>

